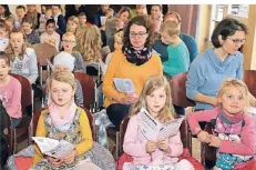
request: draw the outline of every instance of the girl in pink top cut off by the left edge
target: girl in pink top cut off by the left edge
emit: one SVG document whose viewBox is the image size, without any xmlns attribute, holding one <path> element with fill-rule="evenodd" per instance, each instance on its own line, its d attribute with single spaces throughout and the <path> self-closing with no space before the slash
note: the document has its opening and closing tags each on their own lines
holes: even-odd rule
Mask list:
<svg viewBox="0 0 256 170">
<path fill-rule="evenodd" d="M 16 128 L 21 121 L 21 84 L 8 74 L 10 69 L 10 57 L 0 52 L 0 99 L 12 119 L 12 128 Z"/>
</svg>

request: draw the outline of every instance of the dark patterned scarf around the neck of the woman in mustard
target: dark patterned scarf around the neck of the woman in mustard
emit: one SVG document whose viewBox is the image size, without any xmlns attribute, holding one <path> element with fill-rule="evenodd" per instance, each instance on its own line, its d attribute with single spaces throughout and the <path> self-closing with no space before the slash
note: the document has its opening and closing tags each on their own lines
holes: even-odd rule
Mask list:
<svg viewBox="0 0 256 170">
<path fill-rule="evenodd" d="M 142 50 L 135 50 L 130 43 L 123 46 L 122 51 L 126 60 L 135 66 L 141 66 L 152 57 L 152 47 L 144 47 Z"/>
</svg>

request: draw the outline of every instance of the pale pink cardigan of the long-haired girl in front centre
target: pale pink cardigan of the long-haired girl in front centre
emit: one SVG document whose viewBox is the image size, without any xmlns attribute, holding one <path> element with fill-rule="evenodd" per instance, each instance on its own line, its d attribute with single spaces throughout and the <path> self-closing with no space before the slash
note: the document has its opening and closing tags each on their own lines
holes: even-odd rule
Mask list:
<svg viewBox="0 0 256 170">
<path fill-rule="evenodd" d="M 156 148 L 151 154 L 146 152 L 147 139 L 140 130 L 140 117 L 133 116 L 127 124 L 124 136 L 123 150 L 133 158 L 134 164 L 174 164 L 177 162 L 177 157 L 183 152 L 183 143 L 181 141 L 180 131 L 177 134 L 170 137 L 170 151 L 164 152 Z M 163 161 L 158 161 L 163 158 Z M 161 163 L 160 163 L 161 162 Z"/>
</svg>

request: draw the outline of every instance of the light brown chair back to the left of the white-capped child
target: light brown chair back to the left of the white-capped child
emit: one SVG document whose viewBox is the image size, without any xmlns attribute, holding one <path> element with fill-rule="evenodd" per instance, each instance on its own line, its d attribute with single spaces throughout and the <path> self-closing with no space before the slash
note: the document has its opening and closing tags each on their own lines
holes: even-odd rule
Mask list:
<svg viewBox="0 0 256 170">
<path fill-rule="evenodd" d="M 38 43 L 33 47 L 34 52 L 38 59 L 38 67 L 39 67 L 39 78 L 40 78 L 40 86 L 42 87 L 42 67 L 47 66 L 48 76 L 50 76 L 50 66 L 48 64 L 48 60 L 52 62 L 53 57 L 57 54 L 55 47 L 48 44 L 48 43 Z"/>
</svg>

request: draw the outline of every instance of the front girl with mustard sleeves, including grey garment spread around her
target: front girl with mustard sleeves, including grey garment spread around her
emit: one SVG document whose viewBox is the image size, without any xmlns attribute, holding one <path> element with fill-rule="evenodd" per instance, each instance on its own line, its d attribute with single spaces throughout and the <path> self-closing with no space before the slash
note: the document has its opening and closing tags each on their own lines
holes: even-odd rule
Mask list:
<svg viewBox="0 0 256 170">
<path fill-rule="evenodd" d="M 66 140 L 75 148 L 70 154 L 54 159 L 43 156 L 35 144 L 29 146 L 8 159 L 8 168 L 17 169 L 14 159 L 18 157 L 33 157 L 33 170 L 115 170 L 111 153 L 93 142 L 85 111 L 73 101 L 73 74 L 70 71 L 58 71 L 50 77 L 48 87 L 53 102 L 41 111 L 35 136 Z"/>
</svg>

